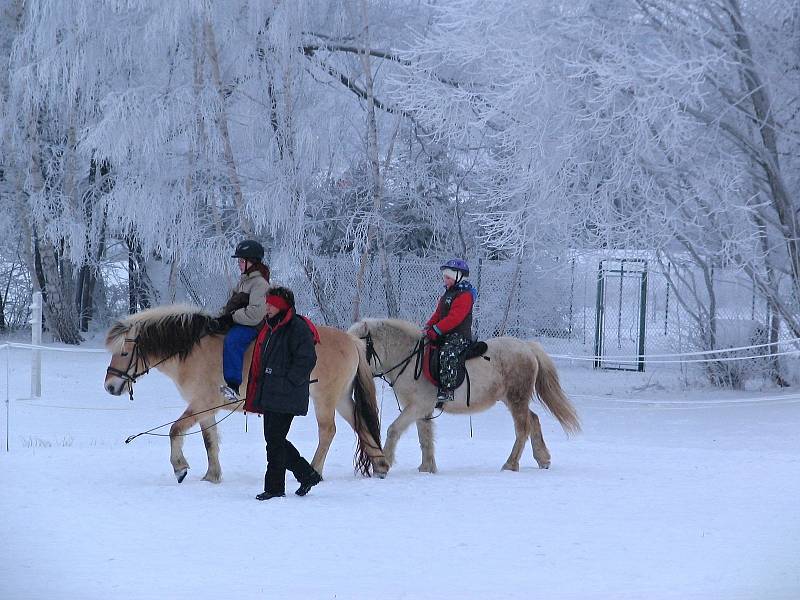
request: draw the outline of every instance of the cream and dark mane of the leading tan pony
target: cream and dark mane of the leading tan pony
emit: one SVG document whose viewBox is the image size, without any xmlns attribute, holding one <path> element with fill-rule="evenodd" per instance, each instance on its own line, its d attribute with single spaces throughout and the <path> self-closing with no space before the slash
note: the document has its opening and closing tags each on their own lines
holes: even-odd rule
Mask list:
<svg viewBox="0 0 800 600">
<path fill-rule="evenodd" d="M 106 348 L 116 353 L 127 337 L 135 337 L 145 356 L 177 356 L 184 360 L 208 334 L 211 319 L 197 306 L 157 306 L 114 323 L 106 334 Z"/>
</svg>

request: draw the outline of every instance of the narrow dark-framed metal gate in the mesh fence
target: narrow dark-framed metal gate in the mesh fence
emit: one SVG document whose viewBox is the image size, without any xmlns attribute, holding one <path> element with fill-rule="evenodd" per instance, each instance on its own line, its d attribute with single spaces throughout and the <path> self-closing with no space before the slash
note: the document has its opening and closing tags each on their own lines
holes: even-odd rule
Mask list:
<svg viewBox="0 0 800 600">
<path fill-rule="evenodd" d="M 644 371 L 646 308 L 647 261 L 601 260 L 595 313 L 596 369 Z M 610 358 L 605 358 L 606 354 Z"/>
</svg>

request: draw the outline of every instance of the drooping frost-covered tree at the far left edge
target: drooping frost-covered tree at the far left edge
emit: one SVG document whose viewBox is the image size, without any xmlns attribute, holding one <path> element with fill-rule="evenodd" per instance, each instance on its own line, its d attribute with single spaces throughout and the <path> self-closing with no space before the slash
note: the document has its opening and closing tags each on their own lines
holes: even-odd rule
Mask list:
<svg viewBox="0 0 800 600">
<path fill-rule="evenodd" d="M 80 10 L 15 3 L 3 17 L 13 32 L 3 77 L 3 203 L 22 231 L 48 327 L 78 343 L 74 267 L 88 263 L 103 210 L 83 193 L 91 161 L 77 146 L 96 116 L 104 73 L 89 66 L 83 39 L 73 35 L 86 18 Z"/>
</svg>

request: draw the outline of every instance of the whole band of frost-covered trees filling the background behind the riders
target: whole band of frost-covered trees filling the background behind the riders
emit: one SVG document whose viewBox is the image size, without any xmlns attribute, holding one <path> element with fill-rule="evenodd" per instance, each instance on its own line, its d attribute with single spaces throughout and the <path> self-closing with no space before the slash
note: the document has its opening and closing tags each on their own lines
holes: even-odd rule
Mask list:
<svg viewBox="0 0 800 600">
<path fill-rule="evenodd" d="M 232 283 L 242 237 L 331 324 L 320 255 L 375 261 L 394 314 L 393 254 L 514 258 L 513 289 L 636 251 L 675 265 L 700 346 L 720 267 L 775 340 L 800 333 L 795 4 L 12 1 L 0 202 L 65 341 L 109 265 L 136 310 Z"/>
</svg>

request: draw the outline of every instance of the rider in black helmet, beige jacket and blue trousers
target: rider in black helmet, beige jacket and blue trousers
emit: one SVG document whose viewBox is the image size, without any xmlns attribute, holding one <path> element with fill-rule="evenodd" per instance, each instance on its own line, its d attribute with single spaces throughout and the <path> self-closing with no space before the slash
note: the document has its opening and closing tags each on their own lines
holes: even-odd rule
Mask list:
<svg viewBox="0 0 800 600">
<path fill-rule="evenodd" d="M 233 290 L 222 314 L 215 319 L 216 331 L 228 330 L 222 347 L 222 373 L 225 385 L 220 391 L 231 401 L 238 400 L 242 384 L 244 353 L 267 316 L 269 267 L 264 259 L 264 247 L 255 240 L 244 240 L 236 246 L 232 258 L 239 259 L 239 283 Z M 228 329 L 230 328 L 230 329 Z"/>
</svg>

